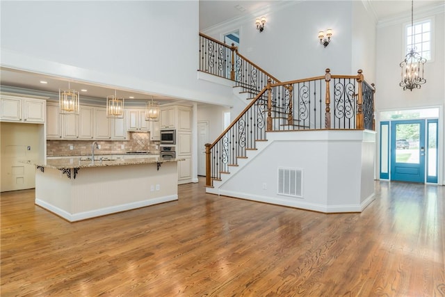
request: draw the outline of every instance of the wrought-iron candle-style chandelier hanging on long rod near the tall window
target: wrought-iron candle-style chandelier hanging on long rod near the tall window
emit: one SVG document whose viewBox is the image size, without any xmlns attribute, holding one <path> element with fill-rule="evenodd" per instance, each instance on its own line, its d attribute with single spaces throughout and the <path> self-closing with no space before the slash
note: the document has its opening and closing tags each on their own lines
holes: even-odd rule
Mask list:
<svg viewBox="0 0 445 297">
<path fill-rule="evenodd" d="M 413 4 L 411 1 L 411 49 L 405 56 L 405 60 L 400 64 L 402 68 L 402 81 L 399 86 L 403 90 L 413 90 L 421 88 L 423 83 L 426 83 L 426 79 L 423 78 L 423 65 L 426 63 L 426 58 L 416 52 L 414 45 L 414 26 L 413 26 Z"/>
</svg>

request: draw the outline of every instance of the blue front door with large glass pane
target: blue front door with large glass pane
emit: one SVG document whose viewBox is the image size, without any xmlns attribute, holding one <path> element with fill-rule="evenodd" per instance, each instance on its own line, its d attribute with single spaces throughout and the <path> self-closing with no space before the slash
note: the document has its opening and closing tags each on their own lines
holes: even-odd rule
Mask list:
<svg viewBox="0 0 445 297">
<path fill-rule="evenodd" d="M 425 182 L 425 120 L 391 121 L 391 180 Z"/>
</svg>

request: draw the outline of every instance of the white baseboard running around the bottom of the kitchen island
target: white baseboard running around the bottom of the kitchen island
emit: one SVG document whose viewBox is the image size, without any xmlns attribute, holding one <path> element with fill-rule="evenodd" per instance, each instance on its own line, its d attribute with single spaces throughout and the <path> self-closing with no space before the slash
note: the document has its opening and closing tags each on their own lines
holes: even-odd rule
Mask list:
<svg viewBox="0 0 445 297">
<path fill-rule="evenodd" d="M 37 198 L 35 198 L 35 204 L 37 204 L 40 207 L 43 207 L 44 209 L 47 209 L 47 210 L 53 212 L 54 214 L 57 214 L 58 216 L 61 216 L 62 218 L 65 218 L 65 220 L 68 220 L 70 222 L 76 222 L 77 220 L 85 220 L 87 218 L 95 218 L 97 216 L 104 216 L 106 214 L 115 214 L 120 211 L 127 211 L 127 210 L 131 210 L 131 209 L 147 207 L 149 205 L 154 205 L 154 204 L 159 204 L 159 203 L 169 202 L 169 201 L 175 201 L 175 200 L 178 200 L 178 195 L 170 195 L 170 196 L 165 196 L 165 197 L 153 198 L 153 199 L 149 199 L 149 200 L 143 200 L 143 201 L 131 202 L 131 203 L 127 203 L 127 204 L 115 205 L 112 207 L 104 207 L 102 209 L 83 211 L 78 214 L 70 214 L 63 209 L 55 207 L 54 205 L 44 202 Z"/>
</svg>

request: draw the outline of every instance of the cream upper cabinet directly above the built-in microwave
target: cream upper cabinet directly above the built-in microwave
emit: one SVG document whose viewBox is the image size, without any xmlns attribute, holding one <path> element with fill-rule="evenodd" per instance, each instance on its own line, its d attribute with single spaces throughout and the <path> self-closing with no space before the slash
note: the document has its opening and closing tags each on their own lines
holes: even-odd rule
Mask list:
<svg viewBox="0 0 445 297">
<path fill-rule="evenodd" d="M 161 107 L 161 129 L 177 129 L 178 131 L 191 131 L 192 109 L 190 106 L 164 106 Z"/>
</svg>

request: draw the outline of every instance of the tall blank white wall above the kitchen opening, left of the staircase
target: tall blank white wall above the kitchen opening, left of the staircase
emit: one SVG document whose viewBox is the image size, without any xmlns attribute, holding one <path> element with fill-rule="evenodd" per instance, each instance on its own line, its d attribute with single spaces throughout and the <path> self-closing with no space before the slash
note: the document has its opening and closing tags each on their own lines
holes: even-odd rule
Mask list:
<svg viewBox="0 0 445 297">
<path fill-rule="evenodd" d="M 198 9 L 197 0 L 1 1 L 1 65 L 229 105 L 229 88 L 197 80 Z"/>
</svg>

